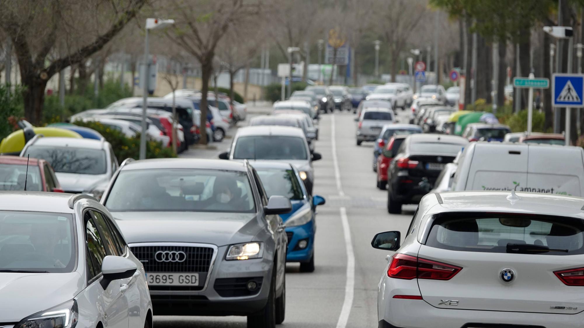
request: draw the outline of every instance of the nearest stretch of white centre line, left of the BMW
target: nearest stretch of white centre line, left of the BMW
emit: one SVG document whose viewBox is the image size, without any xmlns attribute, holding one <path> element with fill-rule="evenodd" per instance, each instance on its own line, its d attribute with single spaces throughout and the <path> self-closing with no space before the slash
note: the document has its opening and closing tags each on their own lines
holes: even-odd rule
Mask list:
<svg viewBox="0 0 584 328">
<path fill-rule="evenodd" d="M 347 326 L 347 321 L 349 320 L 351 308 L 353 307 L 353 294 L 355 287 L 355 255 L 353 253 L 351 230 L 345 207 L 340 208 L 340 221 L 343 224 L 343 234 L 345 234 L 345 246 L 347 248 L 347 282 L 345 284 L 345 301 L 343 301 L 343 308 L 340 310 L 339 320 L 336 322 L 336 328 L 345 328 Z"/>
</svg>

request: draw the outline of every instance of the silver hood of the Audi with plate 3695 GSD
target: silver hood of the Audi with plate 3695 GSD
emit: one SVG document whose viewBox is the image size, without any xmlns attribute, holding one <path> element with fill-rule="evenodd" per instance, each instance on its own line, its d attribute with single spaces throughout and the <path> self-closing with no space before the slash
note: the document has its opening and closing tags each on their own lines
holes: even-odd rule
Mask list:
<svg viewBox="0 0 584 328">
<path fill-rule="evenodd" d="M 112 212 L 128 244 L 200 242 L 217 246 L 251 241 L 262 230 L 256 213 Z"/>
</svg>

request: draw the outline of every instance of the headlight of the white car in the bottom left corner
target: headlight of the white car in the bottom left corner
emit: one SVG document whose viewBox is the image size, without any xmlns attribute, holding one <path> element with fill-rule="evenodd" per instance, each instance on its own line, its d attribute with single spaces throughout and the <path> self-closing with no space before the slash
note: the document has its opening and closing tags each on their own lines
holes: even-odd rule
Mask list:
<svg viewBox="0 0 584 328">
<path fill-rule="evenodd" d="M 77 326 L 78 320 L 77 301 L 71 299 L 71 301 L 20 320 L 14 328 L 73 328 Z"/>
</svg>

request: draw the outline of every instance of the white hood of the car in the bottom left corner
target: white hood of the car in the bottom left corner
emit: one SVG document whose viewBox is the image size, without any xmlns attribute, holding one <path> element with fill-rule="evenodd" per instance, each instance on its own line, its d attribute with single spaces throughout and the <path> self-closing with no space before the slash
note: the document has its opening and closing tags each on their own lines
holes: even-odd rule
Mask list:
<svg viewBox="0 0 584 328">
<path fill-rule="evenodd" d="M 79 273 L 0 273 L 0 322 L 19 322 L 69 301 L 85 287 Z"/>
</svg>

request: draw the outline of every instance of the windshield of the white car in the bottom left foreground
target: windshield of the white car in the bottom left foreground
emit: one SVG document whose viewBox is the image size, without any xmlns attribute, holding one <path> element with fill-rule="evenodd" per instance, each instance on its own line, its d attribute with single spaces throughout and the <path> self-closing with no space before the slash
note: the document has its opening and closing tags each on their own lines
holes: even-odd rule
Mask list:
<svg viewBox="0 0 584 328">
<path fill-rule="evenodd" d="M 0 271 L 71 272 L 75 238 L 71 214 L 0 212 Z"/>
</svg>

